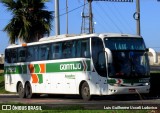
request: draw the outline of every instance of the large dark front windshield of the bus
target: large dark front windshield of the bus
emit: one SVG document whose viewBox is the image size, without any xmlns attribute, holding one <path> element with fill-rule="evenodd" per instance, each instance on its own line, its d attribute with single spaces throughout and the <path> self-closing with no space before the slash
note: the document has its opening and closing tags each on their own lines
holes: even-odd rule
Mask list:
<svg viewBox="0 0 160 113">
<path fill-rule="evenodd" d="M 149 76 L 149 61 L 142 38 L 106 38 L 105 46 L 112 51 L 109 77 L 144 78 Z"/>
</svg>

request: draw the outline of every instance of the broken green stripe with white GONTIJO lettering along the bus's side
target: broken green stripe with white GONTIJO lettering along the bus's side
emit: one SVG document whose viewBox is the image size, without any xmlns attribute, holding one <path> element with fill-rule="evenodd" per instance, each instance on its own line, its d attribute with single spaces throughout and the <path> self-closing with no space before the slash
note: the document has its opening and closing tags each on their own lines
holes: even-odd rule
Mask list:
<svg viewBox="0 0 160 113">
<path fill-rule="evenodd" d="M 40 73 L 39 64 L 34 65 L 34 73 Z M 27 65 L 5 66 L 5 74 L 27 74 Z M 29 70 L 29 69 L 28 69 Z M 72 62 L 58 62 L 47 63 L 46 73 L 52 72 L 86 72 L 90 71 L 90 60 L 72 61 Z M 29 73 L 28 73 L 29 74 Z"/>
</svg>

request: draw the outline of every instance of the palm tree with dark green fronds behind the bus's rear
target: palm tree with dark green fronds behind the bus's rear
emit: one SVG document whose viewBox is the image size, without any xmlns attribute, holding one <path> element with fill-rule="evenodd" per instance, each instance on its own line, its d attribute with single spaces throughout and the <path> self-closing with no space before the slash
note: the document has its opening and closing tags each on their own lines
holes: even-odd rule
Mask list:
<svg viewBox="0 0 160 113">
<path fill-rule="evenodd" d="M 34 42 L 50 34 L 52 12 L 45 10 L 48 0 L 1 0 L 13 17 L 5 26 L 13 44 L 17 40 Z"/>
</svg>

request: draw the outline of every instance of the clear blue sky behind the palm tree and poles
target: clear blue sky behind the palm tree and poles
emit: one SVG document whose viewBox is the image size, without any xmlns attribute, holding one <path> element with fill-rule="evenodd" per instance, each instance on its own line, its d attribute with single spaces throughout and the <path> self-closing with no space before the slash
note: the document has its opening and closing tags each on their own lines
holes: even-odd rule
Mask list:
<svg viewBox="0 0 160 113">
<path fill-rule="evenodd" d="M 66 34 L 66 0 L 59 0 L 60 34 Z M 68 0 L 69 34 L 80 34 L 84 0 Z M 46 10 L 54 11 L 54 0 L 46 4 Z M 92 2 L 95 33 L 136 34 L 136 0 L 130 2 Z M 141 36 L 147 48 L 160 52 L 160 2 L 158 0 L 140 0 Z M 9 37 L 3 31 L 12 15 L 0 3 L 0 54 L 9 45 Z M 55 35 L 54 20 L 50 36 Z"/>
</svg>

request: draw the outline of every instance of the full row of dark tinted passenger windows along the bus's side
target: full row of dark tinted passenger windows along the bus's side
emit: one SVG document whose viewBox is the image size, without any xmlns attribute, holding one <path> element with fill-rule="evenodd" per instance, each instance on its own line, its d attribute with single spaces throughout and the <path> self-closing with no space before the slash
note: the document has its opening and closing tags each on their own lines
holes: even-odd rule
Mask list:
<svg viewBox="0 0 160 113">
<path fill-rule="evenodd" d="M 88 38 L 6 49 L 5 60 L 8 63 L 16 63 L 80 57 L 89 58 L 89 44 Z"/>
</svg>

